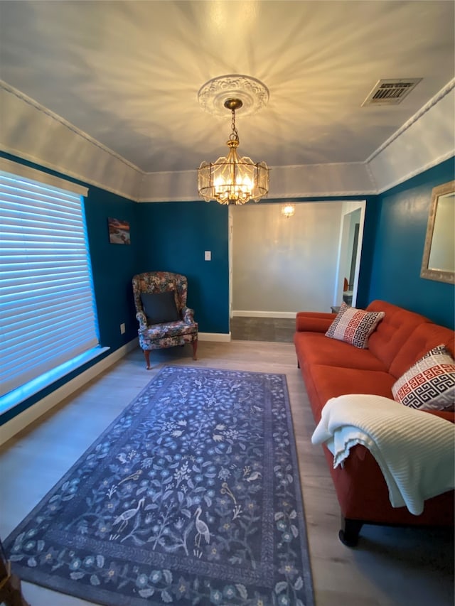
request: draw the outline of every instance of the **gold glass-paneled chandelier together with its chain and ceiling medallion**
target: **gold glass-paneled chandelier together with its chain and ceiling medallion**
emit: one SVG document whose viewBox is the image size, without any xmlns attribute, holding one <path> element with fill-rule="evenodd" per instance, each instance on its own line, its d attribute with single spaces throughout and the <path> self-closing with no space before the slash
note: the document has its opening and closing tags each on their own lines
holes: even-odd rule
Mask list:
<svg viewBox="0 0 455 606">
<path fill-rule="evenodd" d="M 245 85 L 247 83 L 247 85 Z M 245 91 L 240 86 L 245 85 Z M 237 147 L 239 134 L 235 127 L 235 112 L 247 105 L 244 115 L 252 114 L 264 106 L 269 91 L 262 82 L 242 75 L 221 76 L 206 82 L 200 88 L 198 99 L 204 109 L 218 115 L 221 103 L 223 114 L 231 112 L 232 132 L 227 142 L 228 156 L 215 162 L 202 162 L 198 168 L 198 193 L 203 200 L 215 200 L 220 204 L 245 204 L 249 200 L 259 202 L 269 192 L 269 168 L 265 162 L 253 162 L 240 158 Z M 222 114 L 220 114 L 222 115 Z"/>
</svg>

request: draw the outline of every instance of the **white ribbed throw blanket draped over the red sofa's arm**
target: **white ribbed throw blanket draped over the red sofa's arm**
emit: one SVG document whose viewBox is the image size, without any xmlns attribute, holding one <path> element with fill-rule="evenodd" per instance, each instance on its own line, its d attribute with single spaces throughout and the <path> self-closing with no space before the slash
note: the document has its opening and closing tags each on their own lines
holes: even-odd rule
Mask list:
<svg viewBox="0 0 455 606">
<path fill-rule="evenodd" d="M 419 515 L 424 500 L 454 488 L 454 424 L 394 400 L 338 396 L 323 407 L 311 442 L 325 443 L 333 467 L 355 444 L 370 450 L 384 475 L 392 507 Z"/>
</svg>

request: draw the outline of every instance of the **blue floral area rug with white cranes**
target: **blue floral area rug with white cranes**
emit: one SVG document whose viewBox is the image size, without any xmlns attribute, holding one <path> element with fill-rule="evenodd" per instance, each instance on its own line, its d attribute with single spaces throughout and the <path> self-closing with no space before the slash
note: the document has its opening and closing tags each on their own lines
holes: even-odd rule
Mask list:
<svg viewBox="0 0 455 606">
<path fill-rule="evenodd" d="M 164 367 L 6 539 L 108 606 L 312 606 L 286 377 Z"/>
</svg>

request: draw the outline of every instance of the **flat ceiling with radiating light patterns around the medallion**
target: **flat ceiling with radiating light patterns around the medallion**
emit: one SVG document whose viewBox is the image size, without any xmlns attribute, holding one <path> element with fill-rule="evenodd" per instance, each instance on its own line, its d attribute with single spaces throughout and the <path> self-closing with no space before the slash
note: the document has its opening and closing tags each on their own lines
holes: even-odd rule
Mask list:
<svg viewBox="0 0 455 606">
<path fill-rule="evenodd" d="M 262 80 L 237 117 L 241 155 L 269 166 L 364 161 L 454 77 L 449 1 L 0 1 L 0 77 L 143 171 L 225 155 L 210 78 Z M 422 77 L 360 107 L 380 78 Z"/>
</svg>

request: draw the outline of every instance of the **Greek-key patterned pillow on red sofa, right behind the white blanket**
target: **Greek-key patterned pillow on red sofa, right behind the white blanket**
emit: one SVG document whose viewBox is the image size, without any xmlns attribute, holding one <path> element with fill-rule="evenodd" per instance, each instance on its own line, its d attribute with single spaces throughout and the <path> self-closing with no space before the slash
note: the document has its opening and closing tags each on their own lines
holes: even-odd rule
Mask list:
<svg viewBox="0 0 455 606">
<path fill-rule="evenodd" d="M 454 411 L 455 362 L 438 345 L 412 365 L 392 386 L 394 399 L 421 411 Z"/>
</svg>

